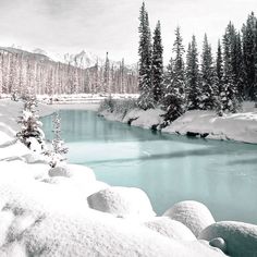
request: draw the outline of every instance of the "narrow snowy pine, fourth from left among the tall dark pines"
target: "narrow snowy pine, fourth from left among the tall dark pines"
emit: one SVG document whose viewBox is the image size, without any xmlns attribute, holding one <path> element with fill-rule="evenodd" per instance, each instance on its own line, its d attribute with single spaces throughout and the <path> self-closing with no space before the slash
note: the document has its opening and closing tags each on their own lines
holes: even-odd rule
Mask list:
<svg viewBox="0 0 257 257">
<path fill-rule="evenodd" d="M 187 109 L 196 110 L 200 108 L 200 85 L 199 85 L 199 66 L 198 52 L 195 36 L 192 37 L 192 42 L 188 45 L 186 54 L 186 95 Z"/>
</svg>

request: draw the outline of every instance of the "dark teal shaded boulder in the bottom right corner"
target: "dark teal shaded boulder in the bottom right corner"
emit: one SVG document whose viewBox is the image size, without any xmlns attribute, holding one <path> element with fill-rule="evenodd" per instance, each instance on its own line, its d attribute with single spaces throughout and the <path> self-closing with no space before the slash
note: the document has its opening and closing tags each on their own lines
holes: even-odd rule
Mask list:
<svg viewBox="0 0 257 257">
<path fill-rule="evenodd" d="M 220 221 L 206 228 L 198 237 L 210 241 L 210 245 L 213 245 L 215 238 L 223 238 L 225 242 L 224 249 L 229 256 L 257 256 L 257 225 L 254 224 Z"/>
</svg>

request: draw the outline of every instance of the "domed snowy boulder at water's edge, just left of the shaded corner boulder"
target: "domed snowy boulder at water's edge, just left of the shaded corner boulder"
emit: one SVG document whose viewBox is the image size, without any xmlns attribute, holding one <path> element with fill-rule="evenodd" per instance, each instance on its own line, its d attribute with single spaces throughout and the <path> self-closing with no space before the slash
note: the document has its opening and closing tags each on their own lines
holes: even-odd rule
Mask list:
<svg viewBox="0 0 257 257">
<path fill-rule="evenodd" d="M 215 219 L 209 209 L 201 203 L 195 200 L 184 200 L 173 205 L 163 216 L 182 222 L 197 237 L 208 225 L 215 223 Z"/>
</svg>

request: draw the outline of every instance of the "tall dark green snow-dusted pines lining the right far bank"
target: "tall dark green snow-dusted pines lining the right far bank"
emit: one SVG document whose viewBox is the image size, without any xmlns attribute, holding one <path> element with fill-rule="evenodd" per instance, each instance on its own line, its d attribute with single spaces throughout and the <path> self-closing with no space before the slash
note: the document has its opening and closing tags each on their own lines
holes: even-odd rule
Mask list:
<svg viewBox="0 0 257 257">
<path fill-rule="evenodd" d="M 199 54 L 193 35 L 187 49 L 181 29 L 175 29 L 173 57 L 163 68 L 160 22 L 151 38 L 148 13 L 143 3 L 139 14 L 139 91 L 143 109 L 161 105 L 169 123 L 186 110 L 236 112 L 243 100 L 257 99 L 257 19 L 248 15 L 241 30 L 230 22 L 215 51 L 204 37 Z"/>
</svg>

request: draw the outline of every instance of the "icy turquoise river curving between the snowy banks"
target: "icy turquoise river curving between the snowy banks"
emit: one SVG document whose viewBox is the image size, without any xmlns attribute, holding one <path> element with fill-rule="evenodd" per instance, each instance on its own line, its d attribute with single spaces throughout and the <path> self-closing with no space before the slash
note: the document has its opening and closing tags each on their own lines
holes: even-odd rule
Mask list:
<svg viewBox="0 0 257 257">
<path fill-rule="evenodd" d="M 95 112 L 62 110 L 70 162 L 98 180 L 144 189 L 159 213 L 173 204 L 204 203 L 217 220 L 257 224 L 257 145 L 152 133 Z M 41 119 L 52 138 L 51 117 Z"/>
</svg>

